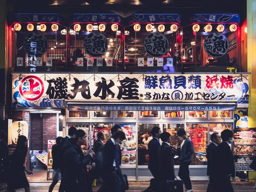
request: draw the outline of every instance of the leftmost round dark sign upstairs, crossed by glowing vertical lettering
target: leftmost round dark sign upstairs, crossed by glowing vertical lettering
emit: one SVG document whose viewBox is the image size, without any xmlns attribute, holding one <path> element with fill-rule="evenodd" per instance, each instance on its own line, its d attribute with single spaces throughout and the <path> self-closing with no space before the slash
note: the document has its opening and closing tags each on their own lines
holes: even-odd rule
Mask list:
<svg viewBox="0 0 256 192">
<path fill-rule="evenodd" d="M 42 33 L 32 32 L 24 39 L 23 47 L 28 55 L 40 57 L 47 52 L 48 41 Z"/>
</svg>

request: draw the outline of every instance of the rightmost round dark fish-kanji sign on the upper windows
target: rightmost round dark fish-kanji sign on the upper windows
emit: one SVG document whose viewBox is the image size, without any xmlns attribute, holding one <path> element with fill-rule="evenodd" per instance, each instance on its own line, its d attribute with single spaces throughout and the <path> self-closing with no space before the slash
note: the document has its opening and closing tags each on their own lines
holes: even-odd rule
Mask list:
<svg viewBox="0 0 256 192">
<path fill-rule="evenodd" d="M 204 50 L 212 57 L 221 57 L 226 54 L 229 44 L 221 33 L 211 33 L 204 40 Z"/>
</svg>

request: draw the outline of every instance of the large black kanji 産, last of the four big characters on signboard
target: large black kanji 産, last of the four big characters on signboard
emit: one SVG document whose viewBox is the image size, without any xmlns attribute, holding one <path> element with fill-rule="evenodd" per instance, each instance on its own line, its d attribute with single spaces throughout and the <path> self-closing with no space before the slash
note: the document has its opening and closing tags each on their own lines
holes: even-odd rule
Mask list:
<svg viewBox="0 0 256 192">
<path fill-rule="evenodd" d="M 139 85 L 137 85 L 137 82 L 139 82 L 138 79 L 133 78 L 130 79 L 126 77 L 123 80 L 120 80 L 120 86 L 117 86 L 119 89 L 119 93 L 117 95 L 117 99 L 139 99 Z"/>
</svg>

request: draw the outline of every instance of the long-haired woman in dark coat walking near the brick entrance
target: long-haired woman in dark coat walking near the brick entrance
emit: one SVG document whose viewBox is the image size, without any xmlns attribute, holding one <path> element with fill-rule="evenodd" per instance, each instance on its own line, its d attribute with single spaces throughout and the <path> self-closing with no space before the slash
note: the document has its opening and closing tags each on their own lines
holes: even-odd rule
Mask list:
<svg viewBox="0 0 256 192">
<path fill-rule="evenodd" d="M 17 140 L 17 145 L 11 157 L 10 175 L 7 181 L 7 189 L 9 192 L 15 192 L 15 189 L 24 188 L 25 192 L 30 192 L 29 182 L 26 178 L 27 174 L 33 174 L 24 167 L 26 154 L 28 151 L 28 141 L 23 135 L 20 135 Z"/>
</svg>

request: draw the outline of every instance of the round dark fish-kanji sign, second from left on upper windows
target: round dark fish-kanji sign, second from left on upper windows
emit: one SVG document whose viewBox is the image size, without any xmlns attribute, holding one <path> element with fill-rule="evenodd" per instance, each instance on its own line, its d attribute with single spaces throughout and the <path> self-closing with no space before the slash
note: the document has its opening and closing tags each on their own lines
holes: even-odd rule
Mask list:
<svg viewBox="0 0 256 192">
<path fill-rule="evenodd" d="M 108 39 L 102 33 L 90 33 L 84 39 L 84 50 L 91 57 L 100 57 L 108 50 Z"/>
</svg>

